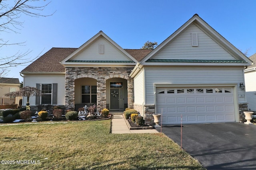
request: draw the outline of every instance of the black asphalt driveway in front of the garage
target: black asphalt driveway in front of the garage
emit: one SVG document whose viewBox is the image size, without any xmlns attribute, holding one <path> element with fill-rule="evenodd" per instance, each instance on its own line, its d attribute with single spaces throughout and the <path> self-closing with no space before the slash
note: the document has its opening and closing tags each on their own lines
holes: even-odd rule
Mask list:
<svg viewBox="0 0 256 170">
<path fill-rule="evenodd" d="M 163 125 L 162 133 L 181 144 L 180 125 Z M 256 125 L 183 124 L 182 148 L 208 170 L 256 170 Z"/>
</svg>

